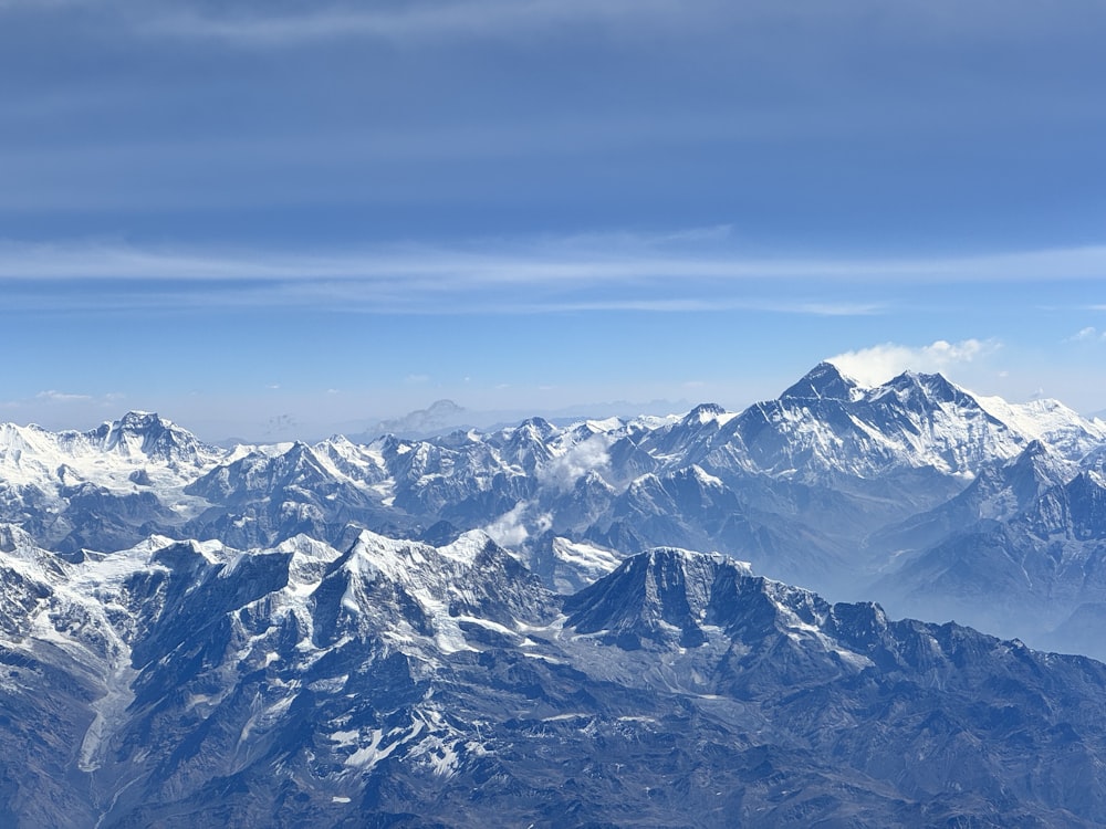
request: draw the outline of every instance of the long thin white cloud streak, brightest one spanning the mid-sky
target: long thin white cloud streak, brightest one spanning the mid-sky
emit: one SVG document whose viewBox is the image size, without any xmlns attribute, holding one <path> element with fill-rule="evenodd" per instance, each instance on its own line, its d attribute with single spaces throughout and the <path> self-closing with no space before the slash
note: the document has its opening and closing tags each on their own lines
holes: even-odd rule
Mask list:
<svg viewBox="0 0 1106 829">
<path fill-rule="evenodd" d="M 628 241 L 627 241 L 628 240 Z M 111 243 L 29 244 L 0 242 L 0 280 L 427 280 L 420 290 L 467 284 L 542 284 L 563 280 L 613 282 L 688 276 L 825 279 L 866 283 L 887 277 L 921 284 L 1096 280 L 1106 276 L 1106 245 L 915 259 L 747 258 L 730 252 L 669 253 L 649 238 L 613 235 L 580 244 L 573 240 L 498 243 L 502 253 L 474 253 L 480 243 L 453 250 L 388 248 L 313 255 L 261 251 L 204 251 Z M 717 248 L 717 245 L 713 245 Z M 448 280 L 442 282 L 444 279 Z M 1097 306 L 1095 306 L 1097 307 Z"/>
</svg>

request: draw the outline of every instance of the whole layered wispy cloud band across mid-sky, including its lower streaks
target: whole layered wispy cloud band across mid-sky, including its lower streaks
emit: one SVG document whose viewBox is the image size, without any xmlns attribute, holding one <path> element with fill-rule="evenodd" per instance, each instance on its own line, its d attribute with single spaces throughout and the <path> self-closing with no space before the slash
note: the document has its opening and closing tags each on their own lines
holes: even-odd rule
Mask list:
<svg viewBox="0 0 1106 829">
<path fill-rule="evenodd" d="M 1099 280 L 1106 246 L 963 258 L 744 255 L 714 229 L 473 240 L 327 254 L 0 243 L 9 311 L 282 306 L 466 314 L 761 311 L 866 316 L 937 284 Z M 65 282 L 65 290 L 53 283 Z"/>
</svg>

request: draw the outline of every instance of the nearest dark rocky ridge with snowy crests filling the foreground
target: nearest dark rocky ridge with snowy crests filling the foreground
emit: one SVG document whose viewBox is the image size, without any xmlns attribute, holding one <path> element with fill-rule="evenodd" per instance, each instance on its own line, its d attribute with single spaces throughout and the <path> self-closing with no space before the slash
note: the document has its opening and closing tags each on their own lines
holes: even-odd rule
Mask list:
<svg viewBox="0 0 1106 829">
<path fill-rule="evenodd" d="M 722 556 L 4 533 L 6 826 L 1106 822 L 1106 667 Z"/>
</svg>

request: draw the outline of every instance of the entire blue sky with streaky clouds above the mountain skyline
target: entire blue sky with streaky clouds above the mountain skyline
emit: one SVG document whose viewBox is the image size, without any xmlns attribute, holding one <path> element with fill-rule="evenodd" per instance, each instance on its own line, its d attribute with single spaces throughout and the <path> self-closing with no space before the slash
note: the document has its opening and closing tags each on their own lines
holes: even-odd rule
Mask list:
<svg viewBox="0 0 1106 829">
<path fill-rule="evenodd" d="M 1104 34 L 1097 1 L 0 0 L 0 419 L 740 408 L 834 356 L 1104 409 Z"/>
</svg>

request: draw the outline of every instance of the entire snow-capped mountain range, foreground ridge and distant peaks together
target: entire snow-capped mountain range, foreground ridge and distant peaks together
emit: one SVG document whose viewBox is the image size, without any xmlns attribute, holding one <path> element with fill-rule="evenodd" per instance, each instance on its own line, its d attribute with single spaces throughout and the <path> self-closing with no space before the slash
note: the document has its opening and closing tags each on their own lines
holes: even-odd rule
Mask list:
<svg viewBox="0 0 1106 829">
<path fill-rule="evenodd" d="M 830 364 L 367 442 L 0 426 L 0 823 L 1106 825 L 1104 458 Z"/>
</svg>

